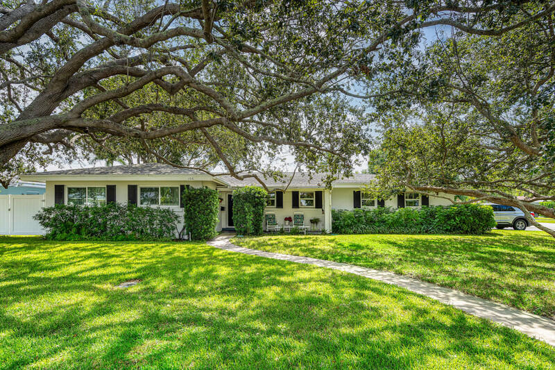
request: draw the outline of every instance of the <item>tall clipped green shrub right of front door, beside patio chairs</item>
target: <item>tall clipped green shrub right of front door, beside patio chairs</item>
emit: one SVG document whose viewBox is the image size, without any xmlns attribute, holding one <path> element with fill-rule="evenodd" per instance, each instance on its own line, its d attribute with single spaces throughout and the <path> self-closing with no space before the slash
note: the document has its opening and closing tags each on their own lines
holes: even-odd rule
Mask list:
<svg viewBox="0 0 555 370">
<path fill-rule="evenodd" d="M 239 235 L 261 235 L 264 228 L 266 190 L 246 186 L 233 191 L 233 224 Z"/>
</svg>

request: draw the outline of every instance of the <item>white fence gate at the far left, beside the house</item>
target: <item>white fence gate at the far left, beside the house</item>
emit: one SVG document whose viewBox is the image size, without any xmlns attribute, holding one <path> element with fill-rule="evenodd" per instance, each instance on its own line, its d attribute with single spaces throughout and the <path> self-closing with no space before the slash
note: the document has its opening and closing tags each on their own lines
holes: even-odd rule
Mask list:
<svg viewBox="0 0 555 370">
<path fill-rule="evenodd" d="M 33 216 L 44 207 L 43 195 L 0 195 L 0 235 L 40 235 Z"/>
</svg>

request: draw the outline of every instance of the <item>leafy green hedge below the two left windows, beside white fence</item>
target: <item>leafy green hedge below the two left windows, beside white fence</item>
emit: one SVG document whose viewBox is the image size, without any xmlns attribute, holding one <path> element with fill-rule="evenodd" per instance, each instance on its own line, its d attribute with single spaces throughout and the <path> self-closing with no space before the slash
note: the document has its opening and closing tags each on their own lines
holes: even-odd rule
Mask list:
<svg viewBox="0 0 555 370">
<path fill-rule="evenodd" d="M 56 240 L 169 240 L 176 235 L 178 215 L 168 208 L 136 205 L 80 206 L 58 204 L 33 216 Z"/>
</svg>

